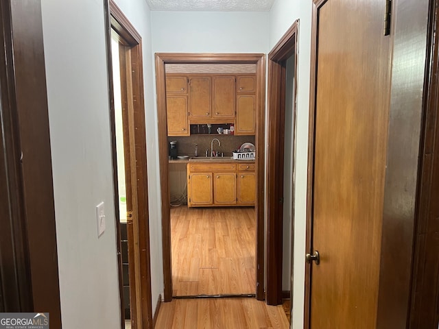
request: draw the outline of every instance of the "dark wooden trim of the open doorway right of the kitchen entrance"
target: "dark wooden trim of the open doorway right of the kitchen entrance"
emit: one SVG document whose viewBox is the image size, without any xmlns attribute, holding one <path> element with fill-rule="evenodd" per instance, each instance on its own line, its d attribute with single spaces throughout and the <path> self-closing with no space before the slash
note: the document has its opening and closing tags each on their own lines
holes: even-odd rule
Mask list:
<svg viewBox="0 0 439 329">
<path fill-rule="evenodd" d="M 285 143 L 285 61 L 294 56 L 294 88 L 297 88 L 298 21 L 277 42 L 268 54 L 268 162 L 267 162 L 267 251 L 266 298 L 270 305 L 282 303 L 283 254 L 283 158 Z M 296 92 L 294 92 L 296 95 Z M 295 103 L 295 99 L 294 99 Z M 296 106 L 294 106 L 294 166 L 296 164 Z M 293 208 L 294 182 L 293 174 Z M 294 211 L 293 218 L 294 221 Z"/>
</svg>

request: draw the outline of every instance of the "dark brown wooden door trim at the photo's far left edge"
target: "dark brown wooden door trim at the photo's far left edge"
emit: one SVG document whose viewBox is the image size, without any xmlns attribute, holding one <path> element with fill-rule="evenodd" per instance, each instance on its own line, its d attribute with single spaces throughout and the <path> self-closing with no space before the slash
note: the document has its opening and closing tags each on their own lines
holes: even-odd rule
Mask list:
<svg viewBox="0 0 439 329">
<path fill-rule="evenodd" d="M 16 204 L 14 210 L 20 208 L 21 213 L 10 213 L 14 221 L 10 225 L 19 232 L 8 232 L 2 227 L 0 239 L 3 241 L 5 234 L 20 244 L 12 247 L 16 254 L 7 254 L 8 265 L 15 268 L 5 271 L 19 273 L 21 287 L 17 295 L 25 298 L 19 304 L 6 305 L 6 311 L 45 310 L 51 313 L 52 325 L 60 328 L 56 218 L 40 1 L 2 1 L 1 16 L 1 34 L 7 41 L 2 45 L 6 58 L 1 58 L 2 65 L 7 67 L 0 70 L 0 98 L 2 106 L 8 107 L 1 112 L 2 121 L 6 119 L 4 113 L 10 115 L 9 122 L 3 121 L 10 135 L 4 136 L 14 143 L 6 147 L 11 147 L 8 167 L 16 170 L 6 176 L 11 175 L 16 182 L 14 186 L 8 186 L 14 199 L 8 200 L 2 195 L 0 207 L 9 207 L 11 202 Z M 7 60 L 8 65 L 3 60 Z M 5 279 L 3 276 L 1 282 L 5 289 L 12 289 L 12 282 Z M 23 296 L 26 293 L 28 295 Z"/>
</svg>

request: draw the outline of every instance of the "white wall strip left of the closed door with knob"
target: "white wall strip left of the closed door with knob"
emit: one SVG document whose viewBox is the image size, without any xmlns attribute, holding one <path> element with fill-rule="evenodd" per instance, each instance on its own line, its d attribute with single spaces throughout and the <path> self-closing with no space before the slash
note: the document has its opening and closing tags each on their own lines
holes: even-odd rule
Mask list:
<svg viewBox="0 0 439 329">
<path fill-rule="evenodd" d="M 297 63 L 296 186 L 294 212 L 294 285 L 292 328 L 303 328 L 305 292 L 305 223 L 307 195 L 307 147 L 309 113 L 309 70 L 311 62 L 312 1 L 276 0 L 270 11 L 270 50 L 300 19 Z"/>
</svg>

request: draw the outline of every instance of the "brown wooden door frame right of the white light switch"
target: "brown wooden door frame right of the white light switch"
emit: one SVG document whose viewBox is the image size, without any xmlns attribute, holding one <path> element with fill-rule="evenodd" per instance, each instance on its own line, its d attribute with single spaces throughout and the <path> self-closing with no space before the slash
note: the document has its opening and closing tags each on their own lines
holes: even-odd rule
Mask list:
<svg viewBox="0 0 439 329">
<path fill-rule="evenodd" d="M 130 308 L 132 328 L 153 328 L 152 320 L 152 292 L 151 292 L 151 267 L 150 267 L 150 227 L 149 227 L 149 210 L 147 195 L 147 151 L 146 151 L 146 134 L 145 134 L 145 105 L 143 97 L 143 56 L 142 56 L 142 39 L 137 30 L 132 26 L 123 12 L 119 9 L 113 0 L 104 0 L 105 10 L 105 31 L 106 31 L 106 51 L 108 66 L 108 97 L 110 101 L 110 130 L 111 130 L 111 147 L 112 147 L 112 167 L 113 167 L 113 184 L 115 195 L 115 215 L 116 215 L 116 232 L 117 232 L 117 264 L 119 269 L 119 299 L 121 307 L 121 328 L 125 328 L 125 315 L 123 310 L 123 278 L 122 278 L 122 256 L 121 256 L 121 232 L 119 219 L 119 190 L 117 183 L 117 151 L 116 151 L 116 133 L 115 133 L 115 103 L 112 77 L 112 56 L 111 56 L 111 38 L 112 30 L 119 36 L 120 44 L 130 48 L 130 69 L 131 79 L 126 82 L 130 86 L 132 97 L 136 99 L 133 102 L 132 116 L 134 118 L 135 129 L 132 141 L 134 141 L 135 154 L 131 154 L 139 165 L 136 166 L 137 175 L 137 197 L 133 204 L 137 204 L 137 209 L 133 208 L 133 230 L 132 240 L 138 241 L 136 245 L 128 245 L 134 249 L 130 256 Z M 124 133 L 125 134 L 125 133 Z M 128 230 L 128 224 L 127 224 Z M 130 235 L 130 234 L 128 234 Z M 130 240 L 130 239 L 128 239 Z M 128 241 L 130 244 L 130 241 Z M 136 265 L 137 266 L 134 266 Z M 134 271 L 133 271 L 134 270 Z M 141 280 L 139 280 L 141 278 Z M 133 297 L 131 296 L 133 293 Z M 136 309 L 141 310 L 137 312 Z M 140 314 L 139 314 L 140 313 Z"/>
</svg>

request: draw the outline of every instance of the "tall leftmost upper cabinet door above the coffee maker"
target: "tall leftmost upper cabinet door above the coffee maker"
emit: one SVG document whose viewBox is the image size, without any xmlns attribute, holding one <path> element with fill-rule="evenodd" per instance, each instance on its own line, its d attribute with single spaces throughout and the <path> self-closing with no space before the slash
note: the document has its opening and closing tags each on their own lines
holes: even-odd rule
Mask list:
<svg viewBox="0 0 439 329">
<path fill-rule="evenodd" d="M 167 95 L 167 136 L 189 136 L 187 96 Z"/>
</svg>

